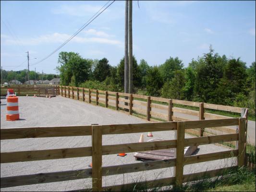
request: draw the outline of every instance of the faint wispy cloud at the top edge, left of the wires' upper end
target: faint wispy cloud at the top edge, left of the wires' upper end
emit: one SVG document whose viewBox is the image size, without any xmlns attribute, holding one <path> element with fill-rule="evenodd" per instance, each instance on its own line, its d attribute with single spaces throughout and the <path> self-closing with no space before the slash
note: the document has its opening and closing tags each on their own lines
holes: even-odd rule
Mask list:
<svg viewBox="0 0 256 192">
<path fill-rule="evenodd" d="M 94 14 L 98 12 L 101 6 L 93 6 L 93 5 L 61 5 L 56 9 L 52 9 L 52 13 L 54 14 L 68 14 L 72 16 L 83 17 L 88 14 Z M 105 10 L 106 12 L 107 10 Z"/>
</svg>

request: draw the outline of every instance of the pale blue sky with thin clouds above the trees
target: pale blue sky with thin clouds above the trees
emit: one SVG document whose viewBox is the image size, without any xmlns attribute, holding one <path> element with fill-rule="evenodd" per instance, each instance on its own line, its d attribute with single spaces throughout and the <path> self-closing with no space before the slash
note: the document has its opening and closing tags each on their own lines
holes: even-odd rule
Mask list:
<svg viewBox="0 0 256 192">
<path fill-rule="evenodd" d="M 86 59 L 107 58 L 117 66 L 124 56 L 125 1 L 115 1 L 59 51 L 38 64 L 72 36 L 108 1 L 0 1 L 0 65 L 58 73 L 61 51 Z M 111 2 L 111 1 L 110 1 Z M 212 45 L 219 55 L 256 58 L 256 1 L 133 1 L 133 54 L 139 63 L 160 65 L 179 57 L 184 67 Z M 35 59 L 37 58 L 37 59 Z"/>
</svg>

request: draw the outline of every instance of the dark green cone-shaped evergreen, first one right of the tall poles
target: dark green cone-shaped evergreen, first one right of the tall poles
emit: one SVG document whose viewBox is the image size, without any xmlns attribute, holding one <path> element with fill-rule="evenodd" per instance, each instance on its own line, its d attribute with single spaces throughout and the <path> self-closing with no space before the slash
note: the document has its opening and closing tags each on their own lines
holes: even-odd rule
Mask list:
<svg viewBox="0 0 256 192">
<path fill-rule="evenodd" d="M 149 96 L 159 96 L 163 85 L 162 76 L 157 66 L 150 67 L 146 73 L 146 92 Z"/>
</svg>

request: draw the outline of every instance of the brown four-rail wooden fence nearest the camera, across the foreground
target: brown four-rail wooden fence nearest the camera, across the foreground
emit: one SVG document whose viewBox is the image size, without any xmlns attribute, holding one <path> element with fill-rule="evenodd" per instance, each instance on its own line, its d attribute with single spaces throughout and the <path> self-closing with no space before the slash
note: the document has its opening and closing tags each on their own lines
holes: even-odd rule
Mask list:
<svg viewBox="0 0 256 192">
<path fill-rule="evenodd" d="M 62 93 L 62 92 L 61 92 Z M 219 120 L 189 120 L 189 121 L 169 121 L 142 124 L 122 124 L 122 125 L 89 125 L 89 126 L 66 126 L 66 127 L 28 127 L 28 128 L 8 128 L 0 130 L 0 139 L 21 139 L 21 138 L 40 138 L 40 137 L 62 137 L 62 136 L 84 136 L 91 135 L 92 146 L 79 148 L 62 148 L 48 150 L 31 150 L 18 152 L 3 152 L 0 154 L 0 163 L 37 161 L 59 158 L 73 158 L 81 156 L 92 156 L 93 168 L 79 170 L 59 171 L 51 173 L 39 173 L 32 175 L 21 175 L 13 177 L 4 177 L 0 179 L 0 187 L 14 187 L 21 185 L 31 185 L 38 183 L 49 183 L 65 180 L 78 180 L 92 178 L 92 189 L 83 189 L 89 191 L 122 191 L 129 190 L 131 187 L 147 185 L 147 188 L 154 188 L 167 185 L 181 185 L 183 182 L 199 180 L 204 176 L 215 177 L 223 174 L 234 167 L 220 168 L 216 170 L 204 171 L 193 174 L 183 174 L 183 166 L 188 164 L 200 163 L 205 161 L 237 157 L 237 166 L 244 166 L 245 154 L 245 118 L 219 119 Z M 225 135 L 203 136 L 185 139 L 185 130 L 195 128 L 208 128 L 219 126 L 239 127 L 238 133 Z M 102 145 L 102 135 L 106 134 L 127 134 L 138 132 L 156 132 L 156 131 L 177 131 L 177 139 Z M 193 156 L 184 156 L 185 146 L 194 146 L 202 144 L 214 144 L 218 142 L 238 141 L 236 149 L 208 153 Z M 176 158 L 169 160 L 157 160 L 150 162 L 141 162 L 135 164 L 116 165 L 102 167 L 102 156 L 130 153 L 146 150 L 158 150 L 176 148 Z M 235 166 L 235 167 L 237 167 Z M 150 180 L 140 183 L 129 183 L 124 185 L 104 186 L 102 187 L 102 176 L 116 175 L 122 173 L 132 173 L 137 171 L 146 171 L 159 168 L 175 167 L 175 176 Z"/>
</svg>

